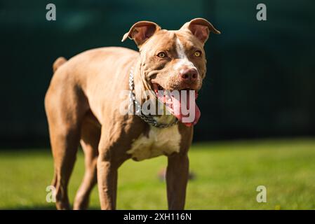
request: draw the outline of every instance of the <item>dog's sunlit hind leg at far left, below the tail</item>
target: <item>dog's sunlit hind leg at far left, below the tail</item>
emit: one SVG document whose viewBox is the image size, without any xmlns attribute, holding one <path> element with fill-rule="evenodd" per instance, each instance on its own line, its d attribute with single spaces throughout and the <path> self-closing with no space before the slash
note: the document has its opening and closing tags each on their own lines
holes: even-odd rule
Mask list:
<svg viewBox="0 0 315 224">
<path fill-rule="evenodd" d="M 65 83 L 62 83 L 64 80 L 54 78 L 45 97 L 54 159 L 53 186 L 56 190 L 57 209 L 70 209 L 67 185 L 76 160 L 81 122 L 88 109 L 88 103 L 82 92 L 69 83 L 65 88 L 63 87 Z"/>
</svg>

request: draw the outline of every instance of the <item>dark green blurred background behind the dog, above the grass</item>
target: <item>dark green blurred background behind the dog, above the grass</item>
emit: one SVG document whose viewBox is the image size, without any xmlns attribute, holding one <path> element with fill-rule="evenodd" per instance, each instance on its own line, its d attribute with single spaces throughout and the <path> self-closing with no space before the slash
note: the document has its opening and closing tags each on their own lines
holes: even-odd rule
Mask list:
<svg viewBox="0 0 315 224">
<path fill-rule="evenodd" d="M 46 20 L 55 3 L 57 20 Z M 265 3 L 267 21 L 256 20 Z M 315 1 L 0 1 L 0 146 L 48 146 L 43 98 L 59 56 L 121 43 L 139 20 L 179 29 L 206 18 L 222 31 L 206 43 L 194 141 L 315 135 Z"/>
</svg>

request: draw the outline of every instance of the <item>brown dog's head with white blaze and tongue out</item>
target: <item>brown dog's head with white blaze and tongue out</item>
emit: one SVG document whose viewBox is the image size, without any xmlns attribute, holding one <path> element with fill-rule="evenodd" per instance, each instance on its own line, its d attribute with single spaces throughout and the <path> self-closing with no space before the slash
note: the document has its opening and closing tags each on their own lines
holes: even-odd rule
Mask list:
<svg viewBox="0 0 315 224">
<path fill-rule="evenodd" d="M 161 29 L 154 22 L 141 21 L 135 23 L 122 39 L 133 39 L 138 45 L 141 73 L 145 77 L 147 88 L 154 90 L 156 97 L 167 103 L 170 113 L 181 121 L 183 115 L 177 107 L 183 104 L 182 92 L 186 93 L 185 106 L 189 108 L 194 103 L 194 100 L 189 101 L 188 93 L 192 92 L 189 90 L 193 90 L 196 96 L 206 76 L 203 45 L 210 32 L 220 34 L 210 22 L 202 18 L 191 20 L 175 31 Z M 178 90 L 180 97 L 160 94 L 163 90 Z M 195 107 L 196 118 L 193 122 L 185 123 L 187 126 L 194 125 L 200 117 L 200 111 Z"/>
</svg>

